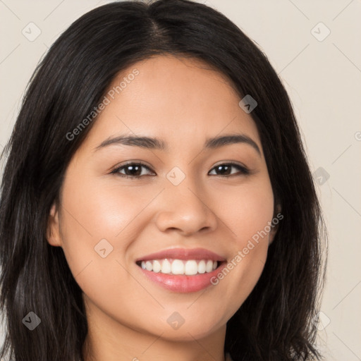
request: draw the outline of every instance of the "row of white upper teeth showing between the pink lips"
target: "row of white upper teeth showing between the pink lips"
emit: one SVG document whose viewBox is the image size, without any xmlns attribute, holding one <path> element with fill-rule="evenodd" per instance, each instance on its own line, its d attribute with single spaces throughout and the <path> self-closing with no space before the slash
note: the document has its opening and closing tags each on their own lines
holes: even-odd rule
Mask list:
<svg viewBox="0 0 361 361">
<path fill-rule="evenodd" d="M 173 259 L 169 262 L 168 259 L 154 259 L 149 261 L 142 261 L 140 266 L 147 271 L 160 272 L 162 274 L 185 274 L 192 276 L 195 274 L 204 274 L 214 271 L 218 263 L 212 259 L 189 259 L 187 261 L 182 259 Z"/>
</svg>

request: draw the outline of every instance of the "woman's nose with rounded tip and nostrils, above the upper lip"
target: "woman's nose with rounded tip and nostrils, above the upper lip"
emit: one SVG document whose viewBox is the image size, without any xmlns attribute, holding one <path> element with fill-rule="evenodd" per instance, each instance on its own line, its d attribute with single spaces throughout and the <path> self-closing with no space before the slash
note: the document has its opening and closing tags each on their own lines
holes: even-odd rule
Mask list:
<svg viewBox="0 0 361 361">
<path fill-rule="evenodd" d="M 211 209 L 214 204 L 207 192 L 201 190 L 200 183 L 190 176 L 186 176 L 179 185 L 166 184 L 160 198 L 156 219 L 159 231 L 171 229 L 181 235 L 192 235 L 216 229 L 218 219 Z"/>
</svg>

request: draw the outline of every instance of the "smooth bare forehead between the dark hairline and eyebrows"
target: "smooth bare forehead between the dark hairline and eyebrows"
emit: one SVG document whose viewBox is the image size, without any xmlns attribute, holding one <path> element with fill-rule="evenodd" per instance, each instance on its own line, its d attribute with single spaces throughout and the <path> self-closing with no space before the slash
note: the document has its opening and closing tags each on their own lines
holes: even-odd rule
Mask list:
<svg viewBox="0 0 361 361">
<path fill-rule="evenodd" d="M 238 105 L 231 82 L 198 59 L 152 56 L 119 73 L 105 96 L 109 104 L 88 136 L 94 146 L 123 133 L 159 137 L 171 147 L 203 145 L 206 138 L 238 132 L 261 147 L 255 122 Z"/>
</svg>

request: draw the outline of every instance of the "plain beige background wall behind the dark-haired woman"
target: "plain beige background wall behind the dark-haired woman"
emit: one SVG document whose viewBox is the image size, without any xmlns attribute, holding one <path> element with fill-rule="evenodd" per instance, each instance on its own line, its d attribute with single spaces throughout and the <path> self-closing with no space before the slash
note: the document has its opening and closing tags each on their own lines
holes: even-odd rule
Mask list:
<svg viewBox="0 0 361 361">
<path fill-rule="evenodd" d="M 73 20 L 106 2 L 0 0 L 0 149 L 44 52 Z M 206 2 L 267 54 L 293 102 L 312 172 L 322 168 L 314 177 L 329 228 L 321 348 L 326 360 L 361 360 L 361 1 Z M 36 35 L 31 22 L 41 31 L 33 41 L 22 33 L 32 26 Z"/>
</svg>

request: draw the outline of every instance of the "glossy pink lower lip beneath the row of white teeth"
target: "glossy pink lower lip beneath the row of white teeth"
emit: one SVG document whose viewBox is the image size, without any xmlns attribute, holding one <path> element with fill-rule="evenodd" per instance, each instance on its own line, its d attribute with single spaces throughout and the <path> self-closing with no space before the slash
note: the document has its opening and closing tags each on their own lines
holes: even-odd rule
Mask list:
<svg viewBox="0 0 361 361">
<path fill-rule="evenodd" d="M 148 271 L 139 266 L 137 267 L 148 277 L 148 279 L 167 290 L 178 293 L 190 293 L 213 286 L 211 283 L 212 277 L 215 277 L 224 267 L 226 267 L 226 262 L 222 263 L 212 272 L 195 274 L 194 276 L 187 276 L 185 274 L 161 274 L 160 272 Z"/>
</svg>

